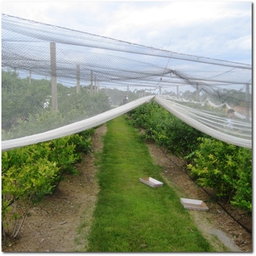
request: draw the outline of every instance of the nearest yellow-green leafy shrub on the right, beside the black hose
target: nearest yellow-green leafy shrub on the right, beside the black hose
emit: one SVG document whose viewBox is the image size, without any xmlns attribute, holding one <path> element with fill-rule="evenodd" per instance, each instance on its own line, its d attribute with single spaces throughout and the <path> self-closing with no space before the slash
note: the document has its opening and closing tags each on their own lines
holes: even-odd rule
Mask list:
<svg viewBox="0 0 256 256">
<path fill-rule="evenodd" d="M 198 138 L 199 148 L 186 158 L 192 177 L 202 187 L 215 190 L 218 198 L 251 212 L 252 151 L 217 139 Z"/>
</svg>

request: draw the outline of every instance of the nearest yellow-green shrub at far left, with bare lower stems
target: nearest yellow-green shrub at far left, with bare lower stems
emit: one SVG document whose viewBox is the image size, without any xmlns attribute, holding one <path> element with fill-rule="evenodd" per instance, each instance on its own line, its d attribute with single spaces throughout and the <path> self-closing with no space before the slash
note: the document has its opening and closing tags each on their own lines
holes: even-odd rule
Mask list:
<svg viewBox="0 0 256 256">
<path fill-rule="evenodd" d="M 16 237 L 33 202 L 51 194 L 59 176 L 56 162 L 50 162 L 45 147 L 28 146 L 3 152 L 1 156 L 2 234 Z"/>
</svg>

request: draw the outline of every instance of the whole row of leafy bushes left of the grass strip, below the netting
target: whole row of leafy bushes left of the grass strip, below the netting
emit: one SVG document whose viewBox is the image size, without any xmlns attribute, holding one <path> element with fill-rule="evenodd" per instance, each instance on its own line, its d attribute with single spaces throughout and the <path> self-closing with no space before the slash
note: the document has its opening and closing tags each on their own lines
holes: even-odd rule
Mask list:
<svg viewBox="0 0 256 256">
<path fill-rule="evenodd" d="M 94 129 L 1 154 L 2 237 L 18 235 L 29 208 L 52 194 L 65 174 L 92 150 Z M 3 240 L 2 240 L 3 241 Z"/>
</svg>

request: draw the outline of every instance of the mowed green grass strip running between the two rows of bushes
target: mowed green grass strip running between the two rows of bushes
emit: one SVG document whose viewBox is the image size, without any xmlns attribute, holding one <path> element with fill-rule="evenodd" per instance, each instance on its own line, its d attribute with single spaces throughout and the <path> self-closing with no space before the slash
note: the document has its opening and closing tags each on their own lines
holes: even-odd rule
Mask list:
<svg viewBox="0 0 256 256">
<path fill-rule="evenodd" d="M 107 123 L 100 155 L 100 192 L 87 252 L 210 252 L 167 184 L 152 188 L 139 177 L 163 182 L 147 145 L 124 116 Z"/>
</svg>

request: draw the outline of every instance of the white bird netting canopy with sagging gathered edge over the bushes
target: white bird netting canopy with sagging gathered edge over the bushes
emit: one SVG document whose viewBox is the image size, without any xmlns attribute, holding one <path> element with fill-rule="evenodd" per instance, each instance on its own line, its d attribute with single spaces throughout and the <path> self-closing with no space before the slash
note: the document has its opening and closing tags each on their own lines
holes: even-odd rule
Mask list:
<svg viewBox="0 0 256 256">
<path fill-rule="evenodd" d="M 250 64 L 6 14 L 1 26 L 2 150 L 97 127 L 150 100 L 212 137 L 252 148 Z"/>
</svg>

